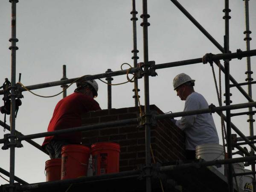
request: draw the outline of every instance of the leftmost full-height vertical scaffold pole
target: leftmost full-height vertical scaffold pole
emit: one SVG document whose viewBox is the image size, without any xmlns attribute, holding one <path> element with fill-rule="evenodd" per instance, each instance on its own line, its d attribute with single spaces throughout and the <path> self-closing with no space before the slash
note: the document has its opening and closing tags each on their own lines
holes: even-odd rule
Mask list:
<svg viewBox="0 0 256 192">
<path fill-rule="evenodd" d="M 16 3 L 18 0 L 9 0 L 12 3 L 12 38 L 9 39 L 11 42 L 11 46 L 9 49 L 11 50 L 11 131 L 10 131 L 10 192 L 14 191 L 14 180 L 15 180 L 15 84 L 16 84 L 16 50 L 18 47 L 16 46 L 16 42 L 18 39 L 16 38 Z"/>
</svg>

